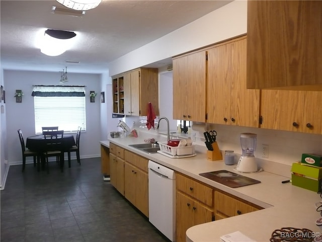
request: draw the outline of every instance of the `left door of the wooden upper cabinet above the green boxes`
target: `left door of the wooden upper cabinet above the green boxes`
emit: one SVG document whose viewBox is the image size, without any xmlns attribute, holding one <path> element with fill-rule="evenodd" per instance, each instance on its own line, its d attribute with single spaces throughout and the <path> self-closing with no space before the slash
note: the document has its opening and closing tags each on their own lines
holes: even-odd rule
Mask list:
<svg viewBox="0 0 322 242">
<path fill-rule="evenodd" d="M 303 130 L 304 91 L 262 90 L 261 128 Z"/>
</svg>

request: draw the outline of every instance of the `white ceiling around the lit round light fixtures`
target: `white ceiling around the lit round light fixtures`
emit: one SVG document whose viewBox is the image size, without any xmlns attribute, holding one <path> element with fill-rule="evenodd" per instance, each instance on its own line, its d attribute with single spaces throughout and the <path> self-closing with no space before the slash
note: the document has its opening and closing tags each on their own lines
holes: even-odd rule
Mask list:
<svg viewBox="0 0 322 242">
<path fill-rule="evenodd" d="M 56 1 L 0 1 L 3 69 L 104 73 L 114 59 L 231 1 L 103 0 L 83 17 L 52 14 Z M 46 29 L 74 31 L 75 45 L 59 56 L 37 47 Z M 79 61 L 80 64 L 65 63 Z"/>
</svg>

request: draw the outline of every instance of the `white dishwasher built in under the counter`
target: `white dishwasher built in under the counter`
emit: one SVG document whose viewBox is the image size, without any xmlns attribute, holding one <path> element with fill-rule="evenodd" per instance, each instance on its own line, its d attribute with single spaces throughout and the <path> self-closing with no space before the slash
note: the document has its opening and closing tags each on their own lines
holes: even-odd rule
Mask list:
<svg viewBox="0 0 322 242">
<path fill-rule="evenodd" d="M 148 162 L 149 221 L 171 241 L 176 239 L 176 174 L 154 161 Z"/>
</svg>

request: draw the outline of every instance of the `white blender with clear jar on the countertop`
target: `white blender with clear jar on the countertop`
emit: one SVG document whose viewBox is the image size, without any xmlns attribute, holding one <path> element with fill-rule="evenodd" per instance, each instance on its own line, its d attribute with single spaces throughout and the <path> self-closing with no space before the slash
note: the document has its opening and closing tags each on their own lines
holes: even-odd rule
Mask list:
<svg viewBox="0 0 322 242">
<path fill-rule="evenodd" d="M 243 154 L 238 160 L 236 167 L 237 171 L 240 172 L 256 172 L 257 162 L 254 156 L 256 150 L 257 134 L 243 133 L 240 134 L 240 145 L 243 150 Z"/>
</svg>

